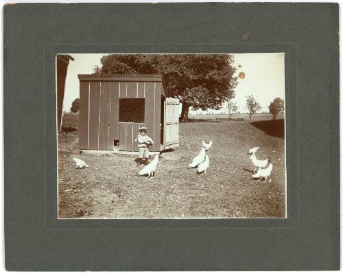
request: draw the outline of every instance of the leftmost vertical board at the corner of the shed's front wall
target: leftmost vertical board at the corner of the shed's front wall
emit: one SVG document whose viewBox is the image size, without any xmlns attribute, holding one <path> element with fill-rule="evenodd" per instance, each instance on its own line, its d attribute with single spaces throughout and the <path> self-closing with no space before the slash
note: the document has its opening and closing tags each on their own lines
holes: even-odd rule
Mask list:
<svg viewBox="0 0 343 274">
<path fill-rule="evenodd" d="M 89 82 L 80 82 L 79 147 L 88 149 L 88 91 Z"/>
</svg>

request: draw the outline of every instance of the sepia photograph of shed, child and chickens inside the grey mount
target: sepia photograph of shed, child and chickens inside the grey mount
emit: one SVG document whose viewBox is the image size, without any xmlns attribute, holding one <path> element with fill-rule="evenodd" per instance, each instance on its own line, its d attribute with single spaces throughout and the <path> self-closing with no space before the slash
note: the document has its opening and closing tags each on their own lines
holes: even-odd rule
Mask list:
<svg viewBox="0 0 343 274">
<path fill-rule="evenodd" d="M 285 54 L 58 54 L 58 218 L 287 218 Z"/>
</svg>

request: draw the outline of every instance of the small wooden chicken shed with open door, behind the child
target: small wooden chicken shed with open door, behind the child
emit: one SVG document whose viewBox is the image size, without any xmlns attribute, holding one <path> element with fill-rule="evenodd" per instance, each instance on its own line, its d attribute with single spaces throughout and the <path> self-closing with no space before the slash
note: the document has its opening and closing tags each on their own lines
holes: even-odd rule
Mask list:
<svg viewBox="0 0 343 274">
<path fill-rule="evenodd" d="M 178 147 L 179 100 L 167 98 L 160 75 L 78 75 L 80 150 L 138 151 L 147 127 L 150 151 Z"/>
</svg>

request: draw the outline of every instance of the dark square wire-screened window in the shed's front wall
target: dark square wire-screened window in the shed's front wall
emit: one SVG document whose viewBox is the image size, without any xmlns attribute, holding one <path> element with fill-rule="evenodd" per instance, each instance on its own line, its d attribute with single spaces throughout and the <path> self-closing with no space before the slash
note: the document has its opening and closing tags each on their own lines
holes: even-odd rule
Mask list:
<svg viewBox="0 0 343 274">
<path fill-rule="evenodd" d="M 119 99 L 119 122 L 144 123 L 144 98 Z"/>
</svg>

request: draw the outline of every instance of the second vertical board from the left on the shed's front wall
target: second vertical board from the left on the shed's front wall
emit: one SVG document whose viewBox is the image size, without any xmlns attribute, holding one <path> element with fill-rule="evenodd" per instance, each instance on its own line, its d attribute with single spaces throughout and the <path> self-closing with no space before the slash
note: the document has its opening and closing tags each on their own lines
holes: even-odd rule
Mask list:
<svg viewBox="0 0 343 274">
<path fill-rule="evenodd" d="M 100 82 L 89 83 L 89 149 L 99 149 Z"/>
</svg>

